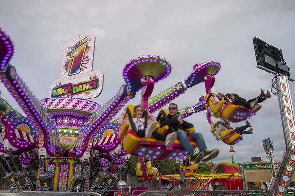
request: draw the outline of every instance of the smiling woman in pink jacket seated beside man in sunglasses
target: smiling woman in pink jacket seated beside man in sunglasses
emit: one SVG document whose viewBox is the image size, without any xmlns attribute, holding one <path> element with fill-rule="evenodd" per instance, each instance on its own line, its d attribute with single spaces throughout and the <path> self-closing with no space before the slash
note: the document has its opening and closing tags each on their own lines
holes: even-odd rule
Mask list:
<svg viewBox="0 0 295 196">
<path fill-rule="evenodd" d="M 150 138 L 151 134 L 155 130 L 158 122 L 157 122 L 156 118 L 147 109 L 145 109 L 145 111 L 147 111 L 148 117 L 150 118 L 150 119 L 148 119 L 148 126 L 146 129 L 144 128 L 145 119 L 144 119 L 144 111 L 143 111 L 142 106 L 137 105 L 134 107 L 133 122 L 134 122 L 136 130 L 133 130 L 133 131 L 136 135 L 138 135 L 141 138 L 143 138 L 143 137 Z M 127 107 L 124 109 L 124 111 L 122 112 L 122 114 L 119 117 L 119 120 L 118 120 L 119 125 L 129 122 L 129 118 L 126 118 L 126 113 L 127 113 Z M 131 124 L 129 126 L 129 130 L 130 129 L 132 129 Z"/>
</svg>

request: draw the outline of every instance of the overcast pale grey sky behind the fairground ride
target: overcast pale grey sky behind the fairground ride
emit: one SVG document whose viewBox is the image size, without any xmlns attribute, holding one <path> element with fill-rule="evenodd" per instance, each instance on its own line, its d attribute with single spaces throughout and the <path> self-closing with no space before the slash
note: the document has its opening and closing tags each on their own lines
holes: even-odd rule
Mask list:
<svg viewBox="0 0 295 196">
<path fill-rule="evenodd" d="M 48 97 L 51 83 L 59 79 L 65 43 L 88 32 L 96 36 L 94 70 L 104 74 L 104 89 L 91 100 L 101 105 L 124 84 L 125 63 L 147 54 L 164 56 L 173 67 L 170 76 L 155 85 L 153 95 L 183 81 L 194 64 L 216 60 L 222 67 L 213 92 L 254 98 L 260 88 L 271 89 L 273 77 L 256 68 L 255 36 L 282 49 L 295 78 L 294 0 L 2 0 L 0 4 L 0 26 L 16 48 L 11 63 L 40 100 Z M 0 90 L 2 98 L 20 111 L 3 84 Z M 290 90 L 294 96 L 294 83 Z M 179 108 L 192 106 L 204 95 L 203 83 L 173 102 Z M 140 94 L 129 103 L 139 102 Z M 214 163 L 231 161 L 229 146 L 215 141 L 205 112 L 187 121 L 204 134 L 209 148 L 220 149 Z M 234 146 L 235 161 L 248 162 L 251 156 L 268 160 L 262 146 L 268 137 L 274 143 L 274 159 L 281 160 L 285 143 L 277 96 L 263 102 L 250 122 L 254 135 L 244 135 Z M 232 123 L 239 125 L 244 122 Z"/>
</svg>

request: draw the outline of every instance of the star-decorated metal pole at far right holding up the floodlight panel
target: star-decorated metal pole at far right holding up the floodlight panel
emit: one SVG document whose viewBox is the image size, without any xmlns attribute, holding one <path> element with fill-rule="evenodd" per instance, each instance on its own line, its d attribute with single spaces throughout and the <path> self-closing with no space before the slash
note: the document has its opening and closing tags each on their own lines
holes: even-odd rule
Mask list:
<svg viewBox="0 0 295 196">
<path fill-rule="evenodd" d="M 286 153 L 277 176 L 269 185 L 268 194 L 269 196 L 285 196 L 295 166 L 295 155 L 292 147 L 295 146 L 294 112 L 287 76 L 279 76 L 277 73 L 275 82 L 286 144 Z"/>
</svg>

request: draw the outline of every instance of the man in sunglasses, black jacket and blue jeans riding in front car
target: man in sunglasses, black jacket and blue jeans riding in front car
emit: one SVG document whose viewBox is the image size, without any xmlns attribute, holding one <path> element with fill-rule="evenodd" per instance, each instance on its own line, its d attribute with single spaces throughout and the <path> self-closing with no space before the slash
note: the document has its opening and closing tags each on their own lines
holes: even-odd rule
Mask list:
<svg viewBox="0 0 295 196">
<path fill-rule="evenodd" d="M 161 127 L 168 125 L 168 133 L 176 133 L 177 138 L 179 139 L 182 147 L 188 151 L 188 155 L 194 159 L 194 163 L 207 162 L 218 156 L 219 150 L 208 150 L 205 144 L 203 135 L 201 133 L 191 133 L 190 137 L 196 142 L 199 147 L 199 151 L 195 151 L 194 147 L 190 144 L 187 134 L 184 132 L 186 129 L 194 127 L 191 123 L 184 121 L 181 118 L 180 113 L 178 112 L 178 106 L 175 103 L 169 104 L 169 115 L 167 115 L 168 120 L 165 120 L 163 117 L 160 119 Z M 166 138 L 167 142 L 167 138 Z"/>
</svg>

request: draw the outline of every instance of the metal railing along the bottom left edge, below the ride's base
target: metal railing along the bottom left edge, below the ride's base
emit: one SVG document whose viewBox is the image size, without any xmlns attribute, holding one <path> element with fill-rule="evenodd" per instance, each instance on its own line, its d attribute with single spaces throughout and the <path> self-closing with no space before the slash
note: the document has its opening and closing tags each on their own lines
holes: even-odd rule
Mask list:
<svg viewBox="0 0 295 196">
<path fill-rule="evenodd" d="M 23 191 L 20 193 L 0 193 L 0 196 L 101 196 L 94 192 L 68 191 Z"/>
</svg>

